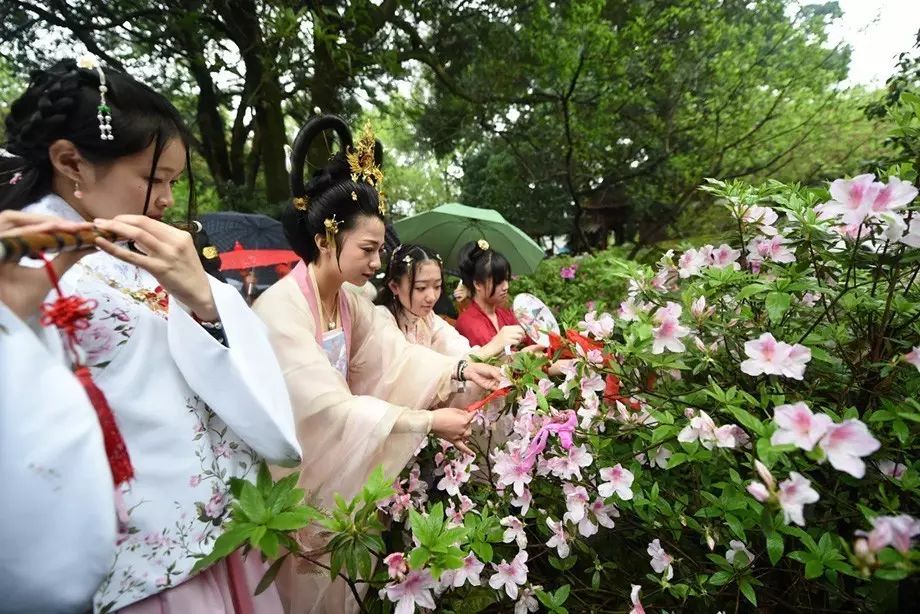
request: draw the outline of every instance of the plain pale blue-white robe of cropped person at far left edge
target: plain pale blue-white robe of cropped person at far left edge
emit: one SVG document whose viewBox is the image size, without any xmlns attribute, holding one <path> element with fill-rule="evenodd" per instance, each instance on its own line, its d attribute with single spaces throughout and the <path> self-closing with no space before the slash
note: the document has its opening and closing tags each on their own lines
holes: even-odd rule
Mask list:
<svg viewBox="0 0 920 614">
<path fill-rule="evenodd" d="M 0 303 L 0 612 L 86 612 L 115 558 L 102 431 L 56 335 Z"/>
</svg>

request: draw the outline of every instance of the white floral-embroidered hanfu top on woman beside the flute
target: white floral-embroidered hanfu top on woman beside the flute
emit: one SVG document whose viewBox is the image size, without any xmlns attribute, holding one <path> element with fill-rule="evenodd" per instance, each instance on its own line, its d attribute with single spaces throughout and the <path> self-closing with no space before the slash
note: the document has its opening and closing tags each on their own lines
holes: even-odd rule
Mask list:
<svg viewBox="0 0 920 614">
<path fill-rule="evenodd" d="M 56 195 L 25 210 L 81 221 Z M 108 254 L 84 257 L 61 279 L 65 294 L 96 303 L 78 342 L 135 470 L 122 488 L 127 519 L 94 599 L 97 612 L 144 606 L 138 602 L 153 596 L 167 599 L 169 589 L 189 581 L 195 555 L 210 552 L 221 534 L 228 479 L 254 478 L 261 458 L 287 466 L 300 461 L 290 402 L 264 326 L 236 290 L 208 279 L 226 346 L 185 305 L 170 300 L 151 274 Z M 261 565 L 254 556 L 247 561 Z M 225 576 L 205 572 L 176 594 L 189 596 L 196 581 L 214 593 Z M 208 611 L 233 611 L 227 599 L 209 598 Z"/>
</svg>

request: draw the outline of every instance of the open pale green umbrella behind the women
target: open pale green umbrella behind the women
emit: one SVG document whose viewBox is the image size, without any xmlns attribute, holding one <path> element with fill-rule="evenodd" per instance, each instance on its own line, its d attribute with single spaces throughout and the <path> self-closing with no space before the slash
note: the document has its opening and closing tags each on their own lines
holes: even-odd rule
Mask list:
<svg viewBox="0 0 920 614">
<path fill-rule="evenodd" d="M 485 239 L 511 263 L 515 275 L 529 275 L 543 260 L 543 249 L 494 209 L 448 203 L 393 224 L 399 240 L 433 249 L 444 264 L 457 269 L 460 248 Z"/>
</svg>

